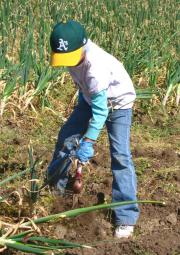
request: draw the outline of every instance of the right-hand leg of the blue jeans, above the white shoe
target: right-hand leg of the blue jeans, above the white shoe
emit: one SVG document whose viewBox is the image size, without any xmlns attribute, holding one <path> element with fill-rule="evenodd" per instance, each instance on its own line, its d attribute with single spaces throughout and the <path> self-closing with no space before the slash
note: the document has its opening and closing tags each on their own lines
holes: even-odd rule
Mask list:
<svg viewBox="0 0 180 255">
<path fill-rule="evenodd" d="M 137 179 L 130 152 L 132 109 L 118 109 L 109 113 L 106 127 L 110 142 L 113 175 L 112 201 L 137 200 Z M 135 225 L 139 217 L 137 204 L 114 209 L 116 225 Z"/>
</svg>

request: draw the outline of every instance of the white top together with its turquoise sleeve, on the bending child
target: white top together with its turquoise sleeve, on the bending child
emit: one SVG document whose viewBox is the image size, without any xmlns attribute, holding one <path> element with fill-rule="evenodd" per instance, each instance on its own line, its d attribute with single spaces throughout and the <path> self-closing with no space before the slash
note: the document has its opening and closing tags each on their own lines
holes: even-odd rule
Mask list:
<svg viewBox="0 0 180 255">
<path fill-rule="evenodd" d="M 107 119 L 108 108 L 131 108 L 136 93 L 121 62 L 91 40 L 84 47 L 84 61 L 68 69 L 83 98 L 92 108 L 92 119 L 85 136 L 96 140 Z"/>
</svg>

